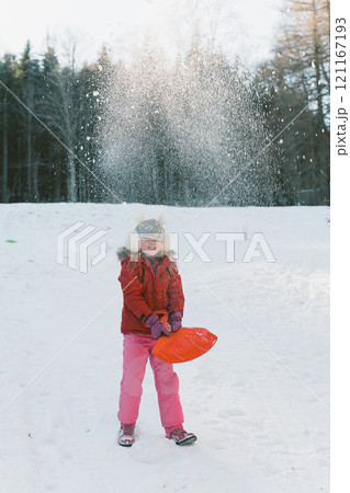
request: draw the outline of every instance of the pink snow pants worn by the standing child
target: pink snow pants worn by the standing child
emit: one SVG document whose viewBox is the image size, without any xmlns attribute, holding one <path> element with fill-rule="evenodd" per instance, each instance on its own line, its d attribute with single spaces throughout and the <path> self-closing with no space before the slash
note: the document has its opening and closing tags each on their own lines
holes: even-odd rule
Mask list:
<svg viewBox="0 0 350 493">
<path fill-rule="evenodd" d="M 156 342 L 147 334 L 124 334 L 123 378 L 117 417 L 122 424 L 136 423 L 149 358 L 158 393 L 160 421 L 168 433 L 171 428 L 181 427 L 183 423 L 179 378 L 172 365 L 161 362 L 150 353 Z"/>
</svg>

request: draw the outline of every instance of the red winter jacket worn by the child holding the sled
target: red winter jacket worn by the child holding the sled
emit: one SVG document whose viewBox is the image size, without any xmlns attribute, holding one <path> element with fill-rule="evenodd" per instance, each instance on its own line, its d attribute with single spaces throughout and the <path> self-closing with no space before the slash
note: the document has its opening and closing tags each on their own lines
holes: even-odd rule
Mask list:
<svg viewBox="0 0 350 493">
<path fill-rule="evenodd" d="M 176 263 L 167 255 L 160 260 L 156 273 L 143 253 L 137 262 L 132 262 L 131 256 L 126 256 L 122 260 L 118 280 L 124 296 L 121 324 L 123 334 L 150 334 L 150 329 L 144 321 L 155 310 L 166 309 L 169 313 L 183 313 L 181 277 Z"/>
</svg>

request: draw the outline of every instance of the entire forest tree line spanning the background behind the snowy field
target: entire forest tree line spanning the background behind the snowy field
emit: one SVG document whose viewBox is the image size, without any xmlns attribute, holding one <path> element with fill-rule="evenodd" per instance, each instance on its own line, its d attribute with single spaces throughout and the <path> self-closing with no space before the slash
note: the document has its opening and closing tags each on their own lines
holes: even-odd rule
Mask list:
<svg viewBox="0 0 350 493">
<path fill-rule="evenodd" d="M 329 1 L 286 0 L 280 33 L 253 73 L 199 32 L 172 65 L 5 54 L 1 202 L 328 204 Z"/>
</svg>

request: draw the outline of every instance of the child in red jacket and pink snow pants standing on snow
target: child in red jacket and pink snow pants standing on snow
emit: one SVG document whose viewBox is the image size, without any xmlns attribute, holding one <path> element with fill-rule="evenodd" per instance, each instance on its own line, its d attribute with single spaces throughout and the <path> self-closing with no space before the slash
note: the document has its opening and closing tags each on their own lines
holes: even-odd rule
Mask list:
<svg viewBox="0 0 350 493">
<path fill-rule="evenodd" d="M 157 339 L 169 336 L 169 329 L 160 323 L 156 310 L 167 310 L 172 331 L 181 328 L 183 291 L 181 277 L 173 259 L 165 250 L 165 230 L 160 221 L 142 221 L 136 232 L 136 252 L 118 251 L 122 271 L 124 306 L 121 330 L 124 334 L 123 378 L 121 382 L 118 444 L 129 447 L 134 443 L 135 423 L 138 416 L 142 383 L 149 359 L 155 376 L 161 424 L 166 437 L 177 445 L 196 440 L 193 433 L 183 429 L 183 414 L 179 398 L 179 379 L 172 365 L 151 354 Z M 132 242 L 133 243 L 133 242 Z M 139 243 L 139 245 L 138 245 Z M 133 250 L 133 249 L 132 249 Z M 135 249 L 134 249 L 135 250 Z M 136 253 L 136 254 L 135 254 Z"/>
</svg>

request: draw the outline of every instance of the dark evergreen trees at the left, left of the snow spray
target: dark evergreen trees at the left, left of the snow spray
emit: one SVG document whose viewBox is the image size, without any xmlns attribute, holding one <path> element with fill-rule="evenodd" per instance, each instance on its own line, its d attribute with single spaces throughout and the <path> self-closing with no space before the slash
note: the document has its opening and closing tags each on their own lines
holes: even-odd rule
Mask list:
<svg viewBox="0 0 350 493">
<path fill-rule="evenodd" d="M 99 64 L 99 60 L 98 60 Z M 97 65 L 60 66 L 54 48 L 42 60 L 30 42 L 18 60 L 0 62 L 2 202 L 93 200 L 90 136 L 98 101 Z M 56 137 L 55 137 L 56 136 Z M 79 159 L 86 168 L 79 167 Z"/>
</svg>

